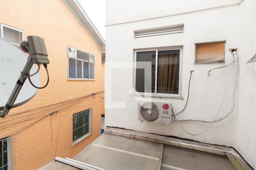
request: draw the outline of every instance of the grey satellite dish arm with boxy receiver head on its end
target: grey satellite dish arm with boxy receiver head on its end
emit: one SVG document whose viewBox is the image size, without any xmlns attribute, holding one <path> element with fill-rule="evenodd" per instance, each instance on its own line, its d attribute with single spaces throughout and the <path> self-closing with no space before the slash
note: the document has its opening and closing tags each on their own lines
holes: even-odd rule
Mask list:
<svg viewBox="0 0 256 170">
<path fill-rule="evenodd" d="M 12 108 L 16 98 L 19 95 L 20 90 L 26 79 L 30 76 L 30 70 L 32 66 L 36 63 L 38 65 L 43 64 L 47 65 L 49 63 L 48 54 L 46 50 L 46 45 L 44 44 L 44 40 L 37 36 L 28 36 L 27 42 L 22 42 L 20 44 L 20 48 L 24 52 L 28 52 L 27 63 L 24 66 L 23 71 L 20 73 L 19 79 L 11 92 L 11 95 L 3 108 L 3 111 L 0 113 L 0 117 L 5 117 L 10 109 Z"/>
</svg>

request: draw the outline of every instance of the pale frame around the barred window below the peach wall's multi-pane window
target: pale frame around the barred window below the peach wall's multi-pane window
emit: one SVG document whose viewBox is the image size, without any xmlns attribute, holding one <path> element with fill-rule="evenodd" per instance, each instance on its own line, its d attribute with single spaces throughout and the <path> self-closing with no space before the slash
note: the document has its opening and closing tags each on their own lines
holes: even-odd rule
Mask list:
<svg viewBox="0 0 256 170">
<path fill-rule="evenodd" d="M 85 109 L 84 111 L 80 111 L 80 112 L 77 112 L 77 113 L 73 113 L 72 114 L 72 117 L 74 118 L 74 115 L 75 114 L 81 114 L 82 112 L 86 112 L 88 111 L 89 112 L 89 132 L 85 135 L 82 135 L 80 138 L 77 138 L 75 141 L 74 141 L 74 127 L 72 128 L 72 141 L 73 141 L 73 146 L 77 145 L 78 143 L 80 143 L 81 141 L 83 141 L 85 138 L 89 137 L 91 134 L 92 134 L 92 109 Z M 72 118 L 72 126 L 74 126 L 74 120 Z M 79 128 L 81 128 L 82 126 L 80 126 Z M 77 128 L 78 129 L 78 128 Z M 75 129 L 76 130 L 76 129 Z"/>
</svg>

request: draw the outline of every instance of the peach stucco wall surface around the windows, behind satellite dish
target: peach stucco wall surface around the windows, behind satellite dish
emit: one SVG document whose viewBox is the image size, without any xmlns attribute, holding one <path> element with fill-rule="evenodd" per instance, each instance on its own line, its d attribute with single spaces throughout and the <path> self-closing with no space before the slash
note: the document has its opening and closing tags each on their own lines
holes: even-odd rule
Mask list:
<svg viewBox="0 0 256 170">
<path fill-rule="evenodd" d="M 104 94 L 90 96 L 73 103 L 53 105 L 40 111 L 24 111 L 102 91 L 104 88 L 101 52 L 98 45 L 61 0 L 1 0 L 0 22 L 22 29 L 24 37 L 28 35 L 43 37 L 50 61 L 48 87 L 39 90 L 34 99 L 12 109 L 8 117 L 0 120 L 0 138 L 14 134 L 13 169 L 36 169 L 53 160 L 55 156 L 72 158 L 100 135 L 101 99 Z M 67 46 L 96 56 L 95 80 L 67 79 Z M 47 76 L 43 69 L 40 74 L 43 85 Z M 92 135 L 72 146 L 72 115 L 89 108 L 93 109 Z M 43 118 L 59 109 L 62 110 Z M 12 116 L 18 112 L 24 113 Z"/>
</svg>

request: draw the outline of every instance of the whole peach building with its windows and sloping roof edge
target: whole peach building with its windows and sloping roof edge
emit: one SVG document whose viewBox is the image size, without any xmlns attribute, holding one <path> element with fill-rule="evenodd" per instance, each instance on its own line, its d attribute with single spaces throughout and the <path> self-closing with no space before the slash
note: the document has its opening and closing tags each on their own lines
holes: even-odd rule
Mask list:
<svg viewBox="0 0 256 170">
<path fill-rule="evenodd" d="M 36 169 L 73 157 L 101 134 L 105 41 L 76 0 L 1 1 L 1 38 L 43 37 L 49 84 L 0 120 L 0 169 Z M 42 83 L 47 75 L 40 71 Z"/>
</svg>

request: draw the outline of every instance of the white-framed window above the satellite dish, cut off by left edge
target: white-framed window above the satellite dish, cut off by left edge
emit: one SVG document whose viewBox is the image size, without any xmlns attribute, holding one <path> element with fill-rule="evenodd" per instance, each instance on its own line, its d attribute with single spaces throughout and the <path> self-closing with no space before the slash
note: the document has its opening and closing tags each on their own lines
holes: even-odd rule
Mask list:
<svg viewBox="0 0 256 170">
<path fill-rule="evenodd" d="M 0 23 L 0 37 L 19 48 L 20 42 L 23 41 L 23 31 Z"/>
</svg>

